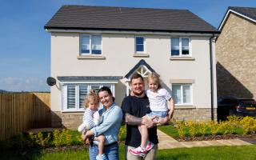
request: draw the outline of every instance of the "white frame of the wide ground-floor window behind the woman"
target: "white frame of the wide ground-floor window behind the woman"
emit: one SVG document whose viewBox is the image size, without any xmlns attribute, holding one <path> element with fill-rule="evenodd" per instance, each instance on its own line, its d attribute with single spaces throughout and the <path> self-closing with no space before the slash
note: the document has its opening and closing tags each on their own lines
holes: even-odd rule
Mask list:
<svg viewBox="0 0 256 160">
<path fill-rule="evenodd" d="M 75 85 L 75 108 L 68 109 L 67 107 L 67 86 Z M 62 112 L 80 112 L 84 111 L 84 107 L 79 108 L 79 86 L 86 85 L 87 86 L 87 94 L 91 90 L 91 86 L 110 86 L 110 90 L 112 91 L 113 96 L 115 95 L 115 84 L 114 83 L 77 83 L 77 82 L 66 82 L 62 83 L 62 96 L 61 96 L 61 104 L 62 104 Z"/>
</svg>

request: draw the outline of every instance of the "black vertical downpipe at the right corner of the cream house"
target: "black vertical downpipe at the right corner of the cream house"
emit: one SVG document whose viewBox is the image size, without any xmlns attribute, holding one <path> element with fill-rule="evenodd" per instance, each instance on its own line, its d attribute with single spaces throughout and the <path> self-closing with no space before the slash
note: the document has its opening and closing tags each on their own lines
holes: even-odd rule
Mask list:
<svg viewBox="0 0 256 160">
<path fill-rule="evenodd" d="M 216 37 L 216 35 L 212 35 L 209 39 L 210 42 L 210 113 L 211 120 L 214 121 L 214 71 L 213 71 L 213 46 L 212 39 Z"/>
</svg>

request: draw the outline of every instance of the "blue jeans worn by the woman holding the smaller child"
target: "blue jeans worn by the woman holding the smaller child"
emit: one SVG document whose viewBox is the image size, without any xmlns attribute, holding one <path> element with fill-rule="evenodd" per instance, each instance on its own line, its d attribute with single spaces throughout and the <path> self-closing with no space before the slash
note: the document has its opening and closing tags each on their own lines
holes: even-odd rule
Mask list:
<svg viewBox="0 0 256 160">
<path fill-rule="evenodd" d="M 90 160 L 95 160 L 96 156 L 98 155 L 98 146 L 97 145 L 90 146 L 89 154 L 90 154 Z M 106 160 L 119 160 L 118 143 L 111 145 L 111 146 L 105 146 L 104 154 L 106 155 Z"/>
</svg>

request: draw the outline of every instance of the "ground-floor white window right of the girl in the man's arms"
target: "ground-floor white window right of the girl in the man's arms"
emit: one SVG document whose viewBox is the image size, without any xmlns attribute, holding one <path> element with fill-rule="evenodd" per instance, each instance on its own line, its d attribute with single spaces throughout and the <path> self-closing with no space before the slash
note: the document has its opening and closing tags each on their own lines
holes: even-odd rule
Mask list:
<svg viewBox="0 0 256 160">
<path fill-rule="evenodd" d="M 176 105 L 192 105 L 191 84 L 173 84 L 172 96 Z"/>
</svg>

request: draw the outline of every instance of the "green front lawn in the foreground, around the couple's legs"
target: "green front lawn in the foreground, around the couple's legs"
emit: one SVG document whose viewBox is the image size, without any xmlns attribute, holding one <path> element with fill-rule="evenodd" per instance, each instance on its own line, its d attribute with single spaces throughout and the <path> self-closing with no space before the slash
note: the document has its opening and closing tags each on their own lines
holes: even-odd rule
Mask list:
<svg viewBox="0 0 256 160">
<path fill-rule="evenodd" d="M 124 159 L 124 146 L 120 145 L 119 157 L 121 160 Z M 159 150 L 157 154 L 157 159 L 161 160 L 215 160 L 215 159 L 230 159 L 230 160 L 240 160 L 256 159 L 256 145 L 252 146 L 211 146 L 203 148 L 180 148 L 180 149 L 171 149 L 171 150 Z M 34 154 L 18 154 L 14 152 L 4 152 L 1 153 L 1 159 L 89 159 L 88 151 L 85 150 L 73 150 L 73 151 L 58 151 L 54 153 L 40 153 Z"/>
</svg>

